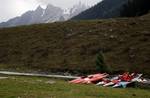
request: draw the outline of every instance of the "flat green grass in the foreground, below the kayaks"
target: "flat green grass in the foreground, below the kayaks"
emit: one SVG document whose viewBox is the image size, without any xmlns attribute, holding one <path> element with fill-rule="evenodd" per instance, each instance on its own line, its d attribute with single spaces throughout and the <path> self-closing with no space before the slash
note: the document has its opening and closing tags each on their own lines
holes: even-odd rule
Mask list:
<svg viewBox="0 0 150 98">
<path fill-rule="evenodd" d="M 1 98 L 150 98 L 149 91 L 74 85 L 62 80 L 37 77 L 9 77 L 0 81 Z"/>
</svg>

